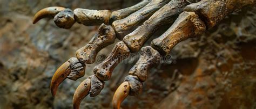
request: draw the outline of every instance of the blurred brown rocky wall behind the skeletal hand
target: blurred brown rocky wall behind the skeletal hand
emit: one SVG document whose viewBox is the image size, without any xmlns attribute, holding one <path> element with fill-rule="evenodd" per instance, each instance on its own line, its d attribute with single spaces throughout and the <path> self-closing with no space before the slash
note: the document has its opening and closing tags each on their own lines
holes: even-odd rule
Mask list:
<svg viewBox="0 0 256 109">
<path fill-rule="evenodd" d="M 117 10 L 139 0 L 2 0 L 0 1 L 0 108 L 72 108 L 72 96 L 86 75 L 66 79 L 55 98 L 50 81 L 55 70 L 75 56 L 98 26 L 58 28 L 52 19 L 32 25 L 33 15 L 48 6 Z M 228 16 L 205 35 L 179 43 L 171 61 L 155 66 L 143 93 L 127 97 L 122 108 L 256 108 L 256 8 Z M 163 33 L 164 27 L 154 35 Z M 153 39 L 153 38 L 152 38 Z M 118 40 L 116 40 L 118 42 Z M 99 55 L 107 56 L 113 45 Z M 86 97 L 80 108 L 112 108 L 117 86 L 137 61 L 119 64 L 100 95 Z"/>
</svg>

